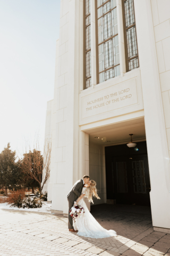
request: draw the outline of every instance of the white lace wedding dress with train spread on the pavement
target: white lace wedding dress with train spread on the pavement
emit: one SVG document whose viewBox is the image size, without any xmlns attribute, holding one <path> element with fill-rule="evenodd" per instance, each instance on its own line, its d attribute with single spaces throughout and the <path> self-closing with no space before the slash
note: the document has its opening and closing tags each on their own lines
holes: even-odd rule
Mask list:
<svg viewBox="0 0 170 256">
<path fill-rule="evenodd" d="M 81 194 L 85 194 L 84 197 L 88 197 L 89 189 L 84 187 Z M 88 210 L 84 199 L 80 199 L 78 205 L 84 207 L 84 213 L 79 214 L 73 221 L 74 230 L 78 230 L 79 236 L 91 237 L 91 238 L 106 238 L 116 236 L 116 231 L 107 230 L 100 226 L 97 220 L 91 215 Z"/>
</svg>

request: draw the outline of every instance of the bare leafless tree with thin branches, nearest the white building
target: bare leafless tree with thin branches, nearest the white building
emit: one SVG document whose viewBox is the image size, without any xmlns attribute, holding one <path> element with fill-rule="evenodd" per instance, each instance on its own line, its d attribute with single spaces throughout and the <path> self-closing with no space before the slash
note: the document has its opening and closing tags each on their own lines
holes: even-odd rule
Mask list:
<svg viewBox="0 0 170 256">
<path fill-rule="evenodd" d="M 36 142 L 35 149 L 32 151 L 30 150 L 30 147 L 29 151 L 26 149 L 25 154 L 23 154 L 23 159 L 21 160 L 22 171 L 38 182 L 40 195 L 49 178 L 51 151 L 51 142 L 46 140 L 44 145 L 44 156 L 41 155 L 39 143 Z"/>
</svg>

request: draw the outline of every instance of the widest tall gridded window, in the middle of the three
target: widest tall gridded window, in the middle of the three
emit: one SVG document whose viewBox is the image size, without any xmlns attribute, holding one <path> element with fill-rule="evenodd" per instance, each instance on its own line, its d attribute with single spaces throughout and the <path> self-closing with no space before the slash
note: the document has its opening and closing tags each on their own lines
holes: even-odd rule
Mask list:
<svg viewBox="0 0 170 256">
<path fill-rule="evenodd" d="M 120 75 L 116 0 L 97 0 L 98 83 Z"/>
</svg>

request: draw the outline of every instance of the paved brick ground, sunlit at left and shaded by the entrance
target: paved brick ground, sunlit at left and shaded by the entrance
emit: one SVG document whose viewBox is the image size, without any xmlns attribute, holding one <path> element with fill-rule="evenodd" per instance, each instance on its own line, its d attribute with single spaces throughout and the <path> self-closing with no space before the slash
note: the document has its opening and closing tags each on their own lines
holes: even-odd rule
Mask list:
<svg viewBox="0 0 170 256">
<path fill-rule="evenodd" d="M 153 230 L 149 207 L 104 204 L 91 213 L 118 236 L 79 237 L 69 233 L 61 215 L 0 210 L 0 255 L 170 255 L 170 234 Z"/>
</svg>

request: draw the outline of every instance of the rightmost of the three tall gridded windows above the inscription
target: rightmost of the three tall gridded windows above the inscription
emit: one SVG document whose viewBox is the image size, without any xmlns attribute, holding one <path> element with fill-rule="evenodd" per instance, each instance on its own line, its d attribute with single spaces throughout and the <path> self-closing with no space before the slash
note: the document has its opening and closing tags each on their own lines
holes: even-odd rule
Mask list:
<svg viewBox="0 0 170 256">
<path fill-rule="evenodd" d="M 139 67 L 137 33 L 133 0 L 122 0 L 126 72 Z"/>
</svg>

